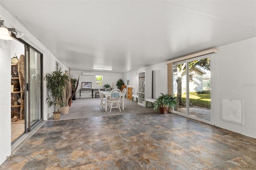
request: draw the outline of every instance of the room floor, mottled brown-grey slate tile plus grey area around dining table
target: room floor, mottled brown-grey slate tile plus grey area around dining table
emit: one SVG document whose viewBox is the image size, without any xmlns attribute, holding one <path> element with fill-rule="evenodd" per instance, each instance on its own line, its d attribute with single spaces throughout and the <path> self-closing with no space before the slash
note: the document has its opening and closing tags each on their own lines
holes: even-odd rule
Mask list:
<svg viewBox="0 0 256 170">
<path fill-rule="evenodd" d="M 0 169 L 256 169 L 256 139 L 128 100 L 124 115 L 108 115 L 96 100 L 74 101 L 68 116 L 77 119 L 47 121 Z"/>
</svg>

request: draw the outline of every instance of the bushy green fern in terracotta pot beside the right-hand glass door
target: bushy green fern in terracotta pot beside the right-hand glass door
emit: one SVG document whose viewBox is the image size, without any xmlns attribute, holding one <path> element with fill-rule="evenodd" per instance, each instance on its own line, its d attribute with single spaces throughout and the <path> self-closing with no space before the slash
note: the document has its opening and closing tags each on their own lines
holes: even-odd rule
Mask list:
<svg viewBox="0 0 256 170">
<path fill-rule="evenodd" d="M 154 110 L 157 110 L 159 107 L 159 112 L 162 114 L 168 113 L 169 107 L 174 107 L 176 105 L 176 97 L 173 97 L 172 95 L 168 95 L 160 93 L 161 96 L 159 96 L 156 101 L 154 102 Z"/>
</svg>

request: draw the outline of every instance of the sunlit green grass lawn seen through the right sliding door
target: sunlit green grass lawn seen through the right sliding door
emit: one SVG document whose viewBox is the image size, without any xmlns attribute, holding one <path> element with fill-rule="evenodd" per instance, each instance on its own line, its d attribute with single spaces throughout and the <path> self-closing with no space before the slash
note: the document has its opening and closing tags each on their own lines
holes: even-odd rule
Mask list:
<svg viewBox="0 0 256 170">
<path fill-rule="evenodd" d="M 186 103 L 186 94 L 181 95 L 181 101 Z M 210 94 L 192 94 L 189 95 L 189 102 L 193 106 L 211 108 L 211 95 Z"/>
</svg>

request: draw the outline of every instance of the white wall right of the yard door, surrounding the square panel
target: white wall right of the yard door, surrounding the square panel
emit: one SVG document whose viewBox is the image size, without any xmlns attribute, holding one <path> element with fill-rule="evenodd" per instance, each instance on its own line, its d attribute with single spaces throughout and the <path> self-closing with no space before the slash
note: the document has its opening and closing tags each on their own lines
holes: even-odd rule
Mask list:
<svg viewBox="0 0 256 170">
<path fill-rule="evenodd" d="M 256 138 L 256 38 L 218 50 L 214 55 L 217 91 L 213 91 L 217 93 L 217 126 Z M 222 120 L 222 97 L 244 100 L 244 126 Z"/>
</svg>

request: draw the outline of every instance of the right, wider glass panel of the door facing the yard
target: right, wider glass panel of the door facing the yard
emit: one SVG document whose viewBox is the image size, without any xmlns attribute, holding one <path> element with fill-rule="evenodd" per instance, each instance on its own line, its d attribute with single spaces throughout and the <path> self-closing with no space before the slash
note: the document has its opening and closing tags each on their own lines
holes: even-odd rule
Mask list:
<svg viewBox="0 0 256 170">
<path fill-rule="evenodd" d="M 188 115 L 211 121 L 210 57 L 188 62 Z"/>
</svg>

